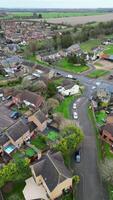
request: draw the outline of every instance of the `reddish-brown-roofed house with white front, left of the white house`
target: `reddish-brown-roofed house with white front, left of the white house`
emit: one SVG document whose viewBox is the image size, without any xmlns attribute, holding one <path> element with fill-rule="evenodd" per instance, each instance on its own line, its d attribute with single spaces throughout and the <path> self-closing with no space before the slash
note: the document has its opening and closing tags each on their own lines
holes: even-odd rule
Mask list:
<svg viewBox="0 0 113 200">
<path fill-rule="evenodd" d="M 26 106 L 31 106 L 37 109 L 43 105 L 44 99 L 40 95 L 37 95 L 28 90 L 24 90 L 22 92 L 18 92 L 16 96 L 13 96 L 13 103 L 17 105 L 24 103 Z"/>
</svg>

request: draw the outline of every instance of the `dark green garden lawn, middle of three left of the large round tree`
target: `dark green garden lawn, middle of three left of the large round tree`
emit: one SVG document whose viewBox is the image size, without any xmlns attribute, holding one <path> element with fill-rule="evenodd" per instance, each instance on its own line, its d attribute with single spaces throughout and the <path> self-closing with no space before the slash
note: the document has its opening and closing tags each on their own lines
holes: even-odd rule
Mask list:
<svg viewBox="0 0 113 200">
<path fill-rule="evenodd" d="M 46 139 L 43 135 L 38 135 L 31 141 L 31 144 L 36 146 L 40 150 L 44 150 L 47 147 Z"/>
</svg>

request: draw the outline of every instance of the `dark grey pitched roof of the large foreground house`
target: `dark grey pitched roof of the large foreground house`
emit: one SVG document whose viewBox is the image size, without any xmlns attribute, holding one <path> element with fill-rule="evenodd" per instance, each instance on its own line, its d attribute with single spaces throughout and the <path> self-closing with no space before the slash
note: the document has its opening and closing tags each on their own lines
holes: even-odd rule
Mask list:
<svg viewBox="0 0 113 200">
<path fill-rule="evenodd" d="M 66 180 L 71 178 L 70 171 L 66 168 L 60 152 L 47 153 L 45 158 L 33 166 L 36 176 L 42 175 L 50 191 Z"/>
</svg>

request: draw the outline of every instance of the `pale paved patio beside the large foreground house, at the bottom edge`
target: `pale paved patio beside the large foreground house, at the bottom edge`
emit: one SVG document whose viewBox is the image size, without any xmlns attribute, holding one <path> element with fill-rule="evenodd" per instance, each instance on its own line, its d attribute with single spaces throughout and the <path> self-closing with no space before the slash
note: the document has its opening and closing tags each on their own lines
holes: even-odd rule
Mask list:
<svg viewBox="0 0 113 200">
<path fill-rule="evenodd" d="M 31 200 L 31 199 L 49 200 L 43 185 L 37 185 L 33 177 L 27 179 L 25 182 L 26 186 L 23 190 L 25 200 Z"/>
</svg>

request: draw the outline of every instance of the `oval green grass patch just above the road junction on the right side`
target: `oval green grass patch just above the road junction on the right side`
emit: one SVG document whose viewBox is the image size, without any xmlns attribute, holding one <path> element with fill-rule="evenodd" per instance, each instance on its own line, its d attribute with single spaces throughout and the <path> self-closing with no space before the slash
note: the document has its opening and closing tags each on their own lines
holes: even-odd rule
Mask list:
<svg viewBox="0 0 113 200">
<path fill-rule="evenodd" d="M 95 71 L 91 72 L 90 74 L 88 74 L 87 76 L 89 78 L 99 78 L 101 76 L 105 76 L 107 75 L 109 72 L 106 70 L 102 70 L 102 69 L 96 69 Z"/>
</svg>

